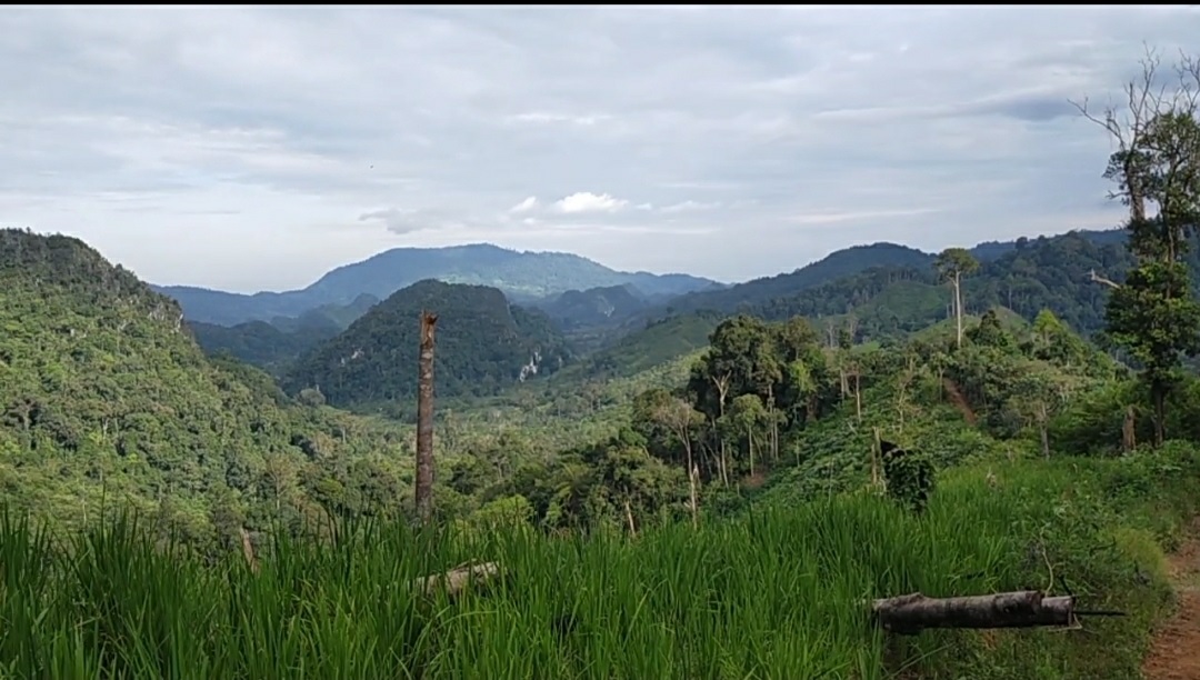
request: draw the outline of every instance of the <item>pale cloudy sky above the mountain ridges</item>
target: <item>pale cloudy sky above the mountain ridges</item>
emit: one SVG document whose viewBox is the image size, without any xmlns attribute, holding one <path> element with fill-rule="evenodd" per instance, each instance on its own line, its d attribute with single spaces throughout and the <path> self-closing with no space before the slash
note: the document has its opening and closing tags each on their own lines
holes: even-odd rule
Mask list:
<svg viewBox="0 0 1200 680">
<path fill-rule="evenodd" d="M 158 284 L 492 242 L 744 281 L 1115 227 L 1120 101 L 1196 6 L 17 7 L 0 225 Z"/>
</svg>

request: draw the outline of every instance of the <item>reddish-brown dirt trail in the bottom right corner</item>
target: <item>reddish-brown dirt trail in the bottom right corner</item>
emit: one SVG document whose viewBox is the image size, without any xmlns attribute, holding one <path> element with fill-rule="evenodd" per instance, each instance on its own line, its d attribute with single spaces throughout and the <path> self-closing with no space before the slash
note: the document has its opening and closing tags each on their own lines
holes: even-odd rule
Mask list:
<svg viewBox="0 0 1200 680">
<path fill-rule="evenodd" d="M 1170 558 L 1180 608 L 1154 631 L 1141 672 L 1146 680 L 1200 680 L 1200 520 Z"/>
</svg>

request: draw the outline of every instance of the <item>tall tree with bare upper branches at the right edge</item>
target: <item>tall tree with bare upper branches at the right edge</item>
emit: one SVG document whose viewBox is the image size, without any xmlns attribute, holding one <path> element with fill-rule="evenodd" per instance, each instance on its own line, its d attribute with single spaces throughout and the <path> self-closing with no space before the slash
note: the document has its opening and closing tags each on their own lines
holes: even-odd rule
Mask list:
<svg viewBox="0 0 1200 680">
<path fill-rule="evenodd" d="M 1165 438 L 1166 398 L 1183 356 L 1200 351 L 1200 303 L 1183 255 L 1200 224 L 1200 60 L 1183 55 L 1177 80 L 1163 85 L 1159 59 L 1147 52 L 1141 79 L 1130 82 L 1123 110 L 1092 114 L 1116 142 L 1104 176 L 1110 198 L 1129 207 L 1129 249 L 1138 264 L 1105 308 L 1106 332 L 1142 367 L 1154 410 L 1154 444 Z"/>
</svg>

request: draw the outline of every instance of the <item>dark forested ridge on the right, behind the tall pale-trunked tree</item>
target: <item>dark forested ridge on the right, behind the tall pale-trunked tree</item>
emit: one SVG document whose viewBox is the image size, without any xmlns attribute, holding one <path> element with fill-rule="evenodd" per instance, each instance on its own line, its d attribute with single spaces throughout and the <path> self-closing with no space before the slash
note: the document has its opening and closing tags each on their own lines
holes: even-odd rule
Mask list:
<svg viewBox="0 0 1200 680">
<path fill-rule="evenodd" d="M 1091 281 L 1090 272 L 1120 281 L 1133 263 L 1121 230 L 992 241 L 972 253 L 978 253 L 980 269 L 964 279 L 967 312 L 1002 307 L 1032 320 L 1048 308 L 1084 335 L 1103 329 L 1108 300 L 1108 288 Z M 1189 257 L 1200 282 L 1200 241 Z M 920 251 L 876 243 L 839 251 L 788 275 L 694 293 L 625 319 L 571 372 L 628 375 L 671 361 L 703 347 L 706 327 L 739 312 L 768 320 L 808 317 L 823 335 L 852 318 L 860 342 L 895 338 L 949 315 L 949 289 L 937 279 L 932 260 Z M 888 261 L 893 264 L 880 264 Z M 856 272 L 869 264 L 874 266 Z M 847 271 L 854 273 L 838 276 Z"/>
</svg>

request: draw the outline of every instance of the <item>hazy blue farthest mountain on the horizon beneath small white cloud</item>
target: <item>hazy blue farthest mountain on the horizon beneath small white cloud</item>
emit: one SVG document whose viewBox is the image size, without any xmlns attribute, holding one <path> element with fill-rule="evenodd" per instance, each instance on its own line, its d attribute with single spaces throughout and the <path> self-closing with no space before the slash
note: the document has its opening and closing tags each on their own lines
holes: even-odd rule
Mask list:
<svg viewBox="0 0 1200 680">
<path fill-rule="evenodd" d="M 156 290 L 178 300 L 190 320 L 236 325 L 276 317 L 299 317 L 323 305 L 348 305 L 367 294 L 384 299 L 422 279 L 488 285 L 512 301 L 529 301 L 568 290 L 635 285 L 652 299 L 665 299 L 719 285 L 682 275 L 622 272 L 568 253 L 517 252 L 487 243 L 445 248 L 394 248 L 360 263 L 340 266 L 301 290 L 242 295 L 186 285 Z"/>
</svg>

